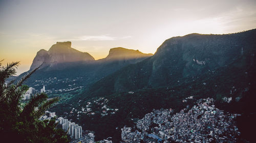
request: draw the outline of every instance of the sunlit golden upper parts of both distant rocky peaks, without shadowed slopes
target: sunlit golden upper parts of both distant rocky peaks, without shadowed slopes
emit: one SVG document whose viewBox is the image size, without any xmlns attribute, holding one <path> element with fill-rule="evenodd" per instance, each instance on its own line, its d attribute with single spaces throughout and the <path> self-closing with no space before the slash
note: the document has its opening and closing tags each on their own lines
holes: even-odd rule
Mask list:
<svg viewBox="0 0 256 143">
<path fill-rule="evenodd" d="M 139 59 L 152 56 L 152 53 L 145 54 L 139 50 L 126 49 L 122 47 L 111 48 L 106 58 L 95 60 L 88 52 L 81 52 L 71 47 L 71 42 L 57 42 L 47 51 L 41 49 L 37 52 L 30 70 L 42 65 L 40 69 L 49 66 L 48 70 L 51 70 L 54 66 L 63 63 L 74 62 L 113 62 L 113 61 L 137 61 Z M 56 68 L 53 68 L 56 69 Z"/>
</svg>

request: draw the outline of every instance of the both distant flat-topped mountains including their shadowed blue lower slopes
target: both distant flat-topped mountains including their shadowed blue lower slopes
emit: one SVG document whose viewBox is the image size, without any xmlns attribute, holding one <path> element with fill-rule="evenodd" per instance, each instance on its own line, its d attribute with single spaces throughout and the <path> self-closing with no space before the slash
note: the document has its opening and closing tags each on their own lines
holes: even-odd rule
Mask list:
<svg viewBox="0 0 256 143">
<path fill-rule="evenodd" d="M 48 51 L 41 49 L 37 52 L 30 71 L 40 65 L 41 67 L 26 81 L 26 84 L 35 89 L 40 89 L 44 84 L 47 89 L 54 91 L 77 87 L 81 89 L 120 68 L 140 62 L 152 55 L 139 50 L 117 47 L 110 49 L 106 58 L 95 60 L 89 53 L 72 48 L 69 41 L 57 42 Z M 20 74 L 17 79 L 26 73 Z M 54 77 L 58 80 L 48 81 Z"/>
</svg>

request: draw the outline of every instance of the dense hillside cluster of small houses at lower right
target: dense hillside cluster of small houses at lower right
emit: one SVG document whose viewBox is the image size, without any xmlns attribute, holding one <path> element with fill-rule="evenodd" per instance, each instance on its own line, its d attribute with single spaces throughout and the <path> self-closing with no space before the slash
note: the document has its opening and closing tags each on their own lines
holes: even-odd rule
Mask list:
<svg viewBox="0 0 256 143">
<path fill-rule="evenodd" d="M 172 109 L 147 113 L 133 127 L 135 131 L 131 127 L 121 129 L 122 141 L 236 142 L 240 136 L 234 121 L 240 115 L 216 108 L 213 99 L 200 99 L 191 109 L 187 106 L 172 113 Z"/>
</svg>

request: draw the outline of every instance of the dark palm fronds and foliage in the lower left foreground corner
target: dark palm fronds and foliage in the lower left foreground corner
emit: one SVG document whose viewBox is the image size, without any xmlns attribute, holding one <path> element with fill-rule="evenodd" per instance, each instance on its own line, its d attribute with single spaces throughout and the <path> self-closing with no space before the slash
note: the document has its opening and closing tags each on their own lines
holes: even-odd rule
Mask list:
<svg viewBox="0 0 256 143">
<path fill-rule="evenodd" d="M 39 120 L 58 98 L 47 100 L 45 93 L 34 95 L 28 103 L 22 102 L 22 95 L 28 90 L 23 82 L 35 70 L 23 76 L 17 83 L 6 83 L 16 73 L 19 62 L 2 66 L 0 63 L 0 135 L 7 142 L 69 142 L 66 133 L 57 129 L 53 120 Z M 8 141 L 9 140 L 9 141 Z"/>
</svg>

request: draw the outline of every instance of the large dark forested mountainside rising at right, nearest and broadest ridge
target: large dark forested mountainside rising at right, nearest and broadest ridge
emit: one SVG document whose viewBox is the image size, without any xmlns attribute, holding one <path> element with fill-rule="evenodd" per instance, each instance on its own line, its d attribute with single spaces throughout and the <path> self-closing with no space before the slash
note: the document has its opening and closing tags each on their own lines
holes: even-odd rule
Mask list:
<svg viewBox="0 0 256 143">
<path fill-rule="evenodd" d="M 226 35 L 189 34 L 167 39 L 156 53 L 102 78 L 85 95 L 106 96 L 118 92 L 168 87 L 227 66 L 255 64 L 256 29 Z"/>
</svg>

